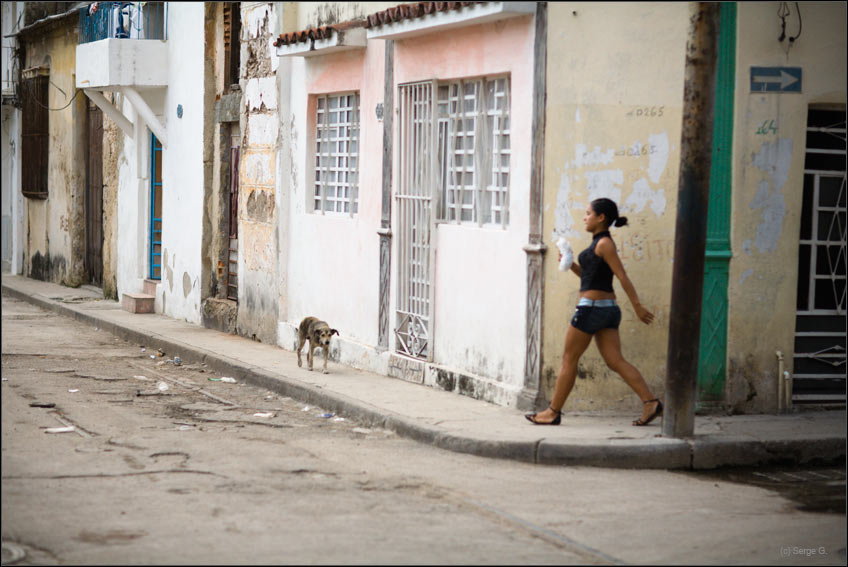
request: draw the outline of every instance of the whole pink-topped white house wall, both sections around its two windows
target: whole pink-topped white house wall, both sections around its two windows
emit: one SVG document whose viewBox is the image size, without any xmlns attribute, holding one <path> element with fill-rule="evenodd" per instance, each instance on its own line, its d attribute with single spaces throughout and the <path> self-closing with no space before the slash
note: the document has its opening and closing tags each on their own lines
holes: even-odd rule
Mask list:
<svg viewBox="0 0 848 567">
<path fill-rule="evenodd" d="M 510 223 L 506 229 L 440 224 L 434 233 L 436 287 L 434 363 L 473 375 L 486 386 L 487 399 L 509 405 L 524 378 L 527 258 L 522 247 L 529 230 L 529 184 L 533 57 L 532 18 L 463 29 L 461 34 L 430 34 L 395 44 L 395 91 L 404 82 L 509 73 L 511 76 Z M 339 330 L 333 348 L 338 359 L 387 373 L 388 353 L 377 350 L 379 236 L 382 199 L 385 43 L 371 40 L 365 50 L 287 58 L 288 88 L 280 120 L 290 125 L 288 248 L 280 260 L 287 277 L 287 314 L 278 344 L 293 348 L 305 316 L 326 320 Z M 457 56 L 462 54 L 462 56 Z M 359 212 L 354 217 L 312 211 L 314 102 L 318 94 L 358 90 L 361 114 Z M 395 109 L 394 147 L 397 152 Z M 396 190 L 398 165 L 394 156 Z M 393 202 L 393 214 L 396 214 Z M 397 218 L 392 229 L 397 230 Z M 281 242 L 285 242 L 281 240 Z M 390 351 L 397 298 L 398 236 L 392 242 Z M 282 311 L 281 311 L 282 312 Z M 432 383 L 432 372 L 425 378 Z"/>
</svg>

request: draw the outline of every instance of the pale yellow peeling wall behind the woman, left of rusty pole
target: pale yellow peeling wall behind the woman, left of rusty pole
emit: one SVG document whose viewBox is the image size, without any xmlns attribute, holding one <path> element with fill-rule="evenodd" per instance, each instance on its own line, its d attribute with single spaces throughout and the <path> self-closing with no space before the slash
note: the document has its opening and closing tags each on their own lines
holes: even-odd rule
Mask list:
<svg viewBox="0 0 848 567">
<path fill-rule="evenodd" d="M 580 288 L 572 272 L 557 269 L 556 241 L 565 236 L 576 260 L 591 242 L 583 225 L 586 207 L 608 197 L 629 219 L 612 229 L 618 253 L 641 302 L 656 316 L 650 326 L 641 323 L 615 279 L 622 353 L 662 395 L 688 8 L 551 2 L 548 10 L 541 389 L 550 399 Z M 567 409 L 638 414 L 641 403 L 590 346 Z"/>
</svg>

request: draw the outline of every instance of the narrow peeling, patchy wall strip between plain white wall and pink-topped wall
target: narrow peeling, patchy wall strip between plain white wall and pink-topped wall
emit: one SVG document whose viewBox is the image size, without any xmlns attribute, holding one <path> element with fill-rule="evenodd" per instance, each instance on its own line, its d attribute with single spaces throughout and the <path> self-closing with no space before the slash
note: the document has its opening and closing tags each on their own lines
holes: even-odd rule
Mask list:
<svg viewBox="0 0 848 567">
<path fill-rule="evenodd" d="M 273 41 L 279 35 L 274 3 L 242 4 L 241 155 L 239 163 L 238 333 L 277 342 L 279 136 Z"/>
</svg>

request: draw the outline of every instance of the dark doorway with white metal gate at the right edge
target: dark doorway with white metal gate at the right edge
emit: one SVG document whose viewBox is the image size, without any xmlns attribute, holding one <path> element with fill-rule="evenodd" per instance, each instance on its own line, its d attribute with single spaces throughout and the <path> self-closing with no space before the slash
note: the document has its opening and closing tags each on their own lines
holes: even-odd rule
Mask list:
<svg viewBox="0 0 848 567">
<path fill-rule="evenodd" d="M 845 403 L 845 110 L 811 109 L 792 400 Z"/>
</svg>

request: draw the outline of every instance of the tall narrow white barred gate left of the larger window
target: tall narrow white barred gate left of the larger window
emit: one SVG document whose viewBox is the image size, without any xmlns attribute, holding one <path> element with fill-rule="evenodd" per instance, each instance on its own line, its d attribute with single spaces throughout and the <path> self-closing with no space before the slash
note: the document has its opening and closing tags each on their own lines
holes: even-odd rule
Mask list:
<svg viewBox="0 0 848 567">
<path fill-rule="evenodd" d="M 434 229 L 437 132 L 434 82 L 401 85 L 398 96 L 399 179 L 397 202 L 398 353 L 433 358 Z"/>
</svg>

